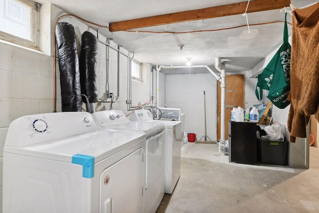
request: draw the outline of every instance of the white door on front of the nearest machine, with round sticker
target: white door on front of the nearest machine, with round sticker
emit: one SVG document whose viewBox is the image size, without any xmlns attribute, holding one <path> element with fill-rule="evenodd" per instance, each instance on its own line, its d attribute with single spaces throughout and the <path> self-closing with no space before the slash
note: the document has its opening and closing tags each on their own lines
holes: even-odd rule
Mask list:
<svg viewBox="0 0 319 213">
<path fill-rule="evenodd" d="M 100 177 L 100 213 L 140 213 L 143 206 L 143 150 L 136 150 Z"/>
</svg>

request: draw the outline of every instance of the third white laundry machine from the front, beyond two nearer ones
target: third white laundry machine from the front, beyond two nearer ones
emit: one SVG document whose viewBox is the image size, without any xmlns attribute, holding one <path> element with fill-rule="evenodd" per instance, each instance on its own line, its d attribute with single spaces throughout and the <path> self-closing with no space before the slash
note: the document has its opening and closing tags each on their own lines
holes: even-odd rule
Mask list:
<svg viewBox="0 0 319 213">
<path fill-rule="evenodd" d="M 180 153 L 183 134 L 181 121 L 153 120 L 147 109 L 135 110 L 131 116 L 132 121 L 148 121 L 161 123 L 165 126 L 165 193 L 172 194 L 180 176 Z"/>
</svg>

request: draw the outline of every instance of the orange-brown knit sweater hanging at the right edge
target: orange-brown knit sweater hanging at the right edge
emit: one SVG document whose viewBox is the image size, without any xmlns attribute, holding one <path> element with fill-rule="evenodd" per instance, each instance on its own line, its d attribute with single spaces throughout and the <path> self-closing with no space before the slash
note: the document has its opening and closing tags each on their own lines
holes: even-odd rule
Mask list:
<svg viewBox="0 0 319 213">
<path fill-rule="evenodd" d="M 290 142 L 306 138 L 310 115 L 319 121 L 319 2 L 293 11 L 288 115 Z"/>
</svg>

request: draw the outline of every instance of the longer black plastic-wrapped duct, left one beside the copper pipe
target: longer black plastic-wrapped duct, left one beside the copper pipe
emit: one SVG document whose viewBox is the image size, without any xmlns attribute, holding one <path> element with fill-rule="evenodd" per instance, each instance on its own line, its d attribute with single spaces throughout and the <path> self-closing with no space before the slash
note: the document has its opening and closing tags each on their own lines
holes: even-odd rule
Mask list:
<svg viewBox="0 0 319 213">
<path fill-rule="evenodd" d="M 57 23 L 55 39 L 59 52 L 62 112 L 81 112 L 79 56 L 74 27 L 66 22 Z"/>
</svg>

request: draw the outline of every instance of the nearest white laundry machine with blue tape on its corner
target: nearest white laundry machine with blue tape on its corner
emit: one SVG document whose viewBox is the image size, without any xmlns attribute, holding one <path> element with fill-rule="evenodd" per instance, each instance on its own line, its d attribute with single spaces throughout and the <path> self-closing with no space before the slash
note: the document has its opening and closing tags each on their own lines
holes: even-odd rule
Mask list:
<svg viewBox="0 0 319 213">
<path fill-rule="evenodd" d="M 87 112 L 23 116 L 7 132 L 3 213 L 144 212 L 145 134 L 100 131 Z"/>
</svg>

